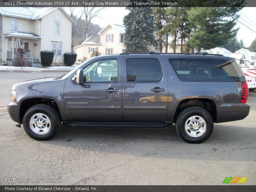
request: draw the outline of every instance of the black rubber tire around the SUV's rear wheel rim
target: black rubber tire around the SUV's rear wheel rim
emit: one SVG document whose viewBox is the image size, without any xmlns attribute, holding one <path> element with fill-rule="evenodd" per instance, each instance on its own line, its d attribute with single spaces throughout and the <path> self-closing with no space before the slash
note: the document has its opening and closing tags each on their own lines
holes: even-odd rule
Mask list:
<svg viewBox="0 0 256 192">
<path fill-rule="evenodd" d="M 205 132 L 198 137 L 192 137 L 188 135 L 185 130 L 185 123 L 191 116 L 201 116 L 206 122 Z M 201 143 L 207 140 L 213 131 L 213 120 L 211 114 L 203 108 L 200 107 L 189 107 L 180 112 L 180 115 L 176 121 L 176 131 L 181 139 L 188 143 Z"/>
</svg>

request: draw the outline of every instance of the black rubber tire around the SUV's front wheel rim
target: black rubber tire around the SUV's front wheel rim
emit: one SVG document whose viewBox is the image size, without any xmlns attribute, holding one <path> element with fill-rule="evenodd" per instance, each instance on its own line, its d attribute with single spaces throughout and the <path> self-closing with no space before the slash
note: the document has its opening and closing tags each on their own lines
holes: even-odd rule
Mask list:
<svg viewBox="0 0 256 192">
<path fill-rule="evenodd" d="M 51 121 L 51 127 L 49 131 L 45 134 L 37 134 L 33 132 L 32 129 L 30 128 L 30 124 L 29 124 L 30 118 L 36 113 L 43 113 L 47 115 Z M 57 111 L 50 105 L 38 104 L 29 108 L 26 111 L 25 115 L 23 116 L 22 124 L 25 132 L 32 139 L 49 140 L 57 133 L 58 129 L 60 128 L 60 116 L 57 113 Z"/>
</svg>

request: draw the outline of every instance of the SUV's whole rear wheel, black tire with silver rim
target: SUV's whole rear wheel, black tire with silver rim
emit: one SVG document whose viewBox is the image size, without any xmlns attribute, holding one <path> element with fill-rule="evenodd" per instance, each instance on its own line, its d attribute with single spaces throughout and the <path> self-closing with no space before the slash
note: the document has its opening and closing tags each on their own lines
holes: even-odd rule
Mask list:
<svg viewBox="0 0 256 192">
<path fill-rule="evenodd" d="M 188 143 L 201 143 L 212 134 L 212 116 L 200 107 L 186 108 L 178 116 L 176 131 L 180 138 Z"/>
</svg>

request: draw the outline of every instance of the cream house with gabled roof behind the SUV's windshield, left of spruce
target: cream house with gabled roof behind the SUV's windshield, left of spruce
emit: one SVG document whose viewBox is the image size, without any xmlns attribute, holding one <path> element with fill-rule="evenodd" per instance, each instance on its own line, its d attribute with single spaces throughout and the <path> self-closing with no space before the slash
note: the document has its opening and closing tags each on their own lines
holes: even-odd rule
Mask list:
<svg viewBox="0 0 256 192">
<path fill-rule="evenodd" d="M 90 36 L 82 44 L 74 47 L 76 59 L 83 61 L 90 59 L 93 52 L 98 51 L 101 55 L 119 54 L 124 52 L 125 27 L 122 25 L 108 24 L 100 30 L 98 35 Z M 155 38 L 157 38 L 154 33 Z M 156 48 L 148 45 L 151 51 Z"/>
</svg>

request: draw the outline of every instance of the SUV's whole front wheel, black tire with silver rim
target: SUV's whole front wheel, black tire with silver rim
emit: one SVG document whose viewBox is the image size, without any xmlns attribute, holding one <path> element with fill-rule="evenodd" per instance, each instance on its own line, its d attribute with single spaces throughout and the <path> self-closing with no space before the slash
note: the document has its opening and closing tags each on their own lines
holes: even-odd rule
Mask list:
<svg viewBox="0 0 256 192">
<path fill-rule="evenodd" d="M 26 111 L 22 124 L 29 137 L 49 140 L 60 128 L 60 116 L 50 105 L 38 104 Z"/>
</svg>

